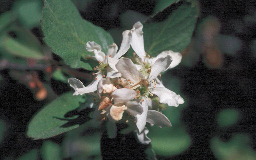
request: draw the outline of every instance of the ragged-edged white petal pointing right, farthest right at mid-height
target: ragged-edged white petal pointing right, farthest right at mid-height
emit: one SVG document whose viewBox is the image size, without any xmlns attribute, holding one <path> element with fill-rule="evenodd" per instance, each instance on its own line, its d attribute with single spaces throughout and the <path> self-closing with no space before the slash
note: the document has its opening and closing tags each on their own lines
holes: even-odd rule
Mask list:
<svg viewBox="0 0 256 160">
<path fill-rule="evenodd" d="M 179 104 L 183 104 L 184 100 L 180 95 L 177 95 L 173 91 L 165 87 L 151 88 L 150 92 L 159 97 L 160 103 L 168 104 L 169 106 L 177 107 Z"/>
</svg>

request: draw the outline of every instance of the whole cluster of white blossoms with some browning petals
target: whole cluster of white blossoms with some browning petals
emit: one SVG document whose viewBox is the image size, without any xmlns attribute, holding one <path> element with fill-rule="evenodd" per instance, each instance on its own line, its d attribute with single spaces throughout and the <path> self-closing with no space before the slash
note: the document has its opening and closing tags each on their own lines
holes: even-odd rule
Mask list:
<svg viewBox="0 0 256 160">
<path fill-rule="evenodd" d="M 68 82 L 74 88 L 74 95 L 89 94 L 86 107 L 95 108 L 93 118 L 107 120 L 109 137 L 116 135 L 115 123 L 124 122 L 128 128 L 123 133 L 135 131 L 141 143 L 148 144 L 146 122 L 160 127 L 171 126 L 168 118 L 160 111 L 163 105 L 177 107 L 184 103 L 180 95 L 167 89 L 159 80 L 161 72 L 177 66 L 181 54 L 163 51 L 157 57 L 145 53 L 142 24 L 137 22 L 131 30 L 123 32 L 119 51 L 115 43 L 109 46 L 107 55 L 95 42 L 87 42 L 86 49 L 93 52 L 91 58 L 99 61 L 94 68 L 95 79 L 85 87 L 76 78 Z M 132 47 L 134 57 L 120 58 Z"/>
</svg>

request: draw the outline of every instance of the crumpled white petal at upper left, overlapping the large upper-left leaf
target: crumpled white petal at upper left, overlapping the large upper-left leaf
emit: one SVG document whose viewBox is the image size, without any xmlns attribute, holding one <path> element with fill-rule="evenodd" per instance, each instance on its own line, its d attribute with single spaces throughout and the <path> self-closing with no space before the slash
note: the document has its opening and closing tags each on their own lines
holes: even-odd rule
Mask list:
<svg viewBox="0 0 256 160">
<path fill-rule="evenodd" d="M 94 52 L 95 58 L 97 61 L 104 61 L 105 60 L 105 53 L 101 51 L 101 46 L 94 41 L 87 42 L 86 47 L 87 51 Z M 92 56 L 94 57 L 94 56 Z"/>
</svg>

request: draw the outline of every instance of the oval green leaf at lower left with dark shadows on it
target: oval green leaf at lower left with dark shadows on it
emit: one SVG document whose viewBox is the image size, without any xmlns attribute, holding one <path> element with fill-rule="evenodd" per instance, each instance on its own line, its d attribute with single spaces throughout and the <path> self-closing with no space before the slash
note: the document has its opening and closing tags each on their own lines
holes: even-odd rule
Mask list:
<svg viewBox="0 0 256 160">
<path fill-rule="evenodd" d="M 28 124 L 27 136 L 34 140 L 45 139 L 78 127 L 76 109 L 85 99 L 81 95 L 72 94 L 73 92 L 69 92 L 60 95 L 36 113 Z"/>
</svg>

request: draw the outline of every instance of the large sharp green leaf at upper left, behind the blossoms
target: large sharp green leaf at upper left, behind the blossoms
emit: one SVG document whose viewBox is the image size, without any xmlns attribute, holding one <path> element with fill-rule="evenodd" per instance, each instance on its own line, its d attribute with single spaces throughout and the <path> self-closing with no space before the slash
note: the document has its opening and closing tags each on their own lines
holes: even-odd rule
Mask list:
<svg viewBox="0 0 256 160">
<path fill-rule="evenodd" d="M 91 54 L 86 50 L 86 42 L 94 41 L 107 52 L 113 43 L 111 35 L 101 27 L 82 19 L 70 0 L 45 0 L 43 20 L 41 22 L 45 42 L 53 52 L 61 56 L 72 68 L 93 67 L 86 60 Z"/>
</svg>

